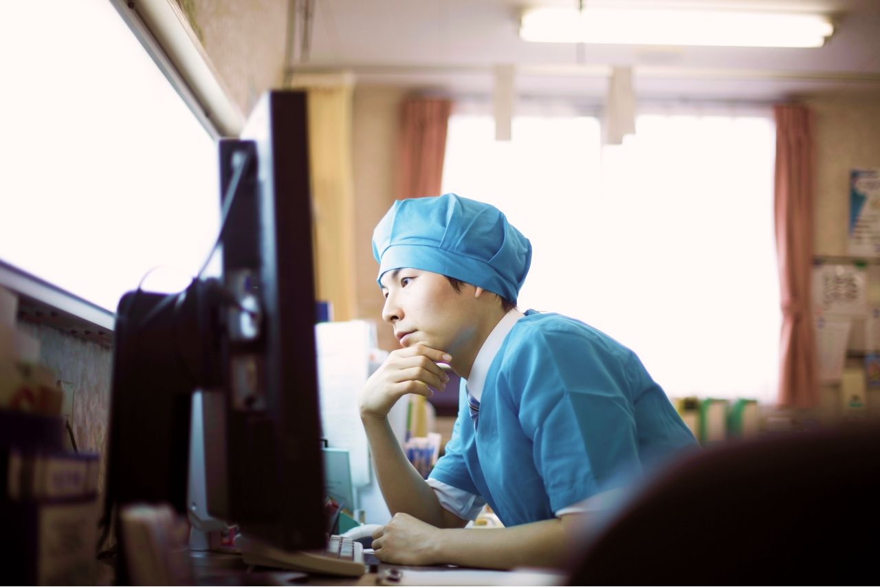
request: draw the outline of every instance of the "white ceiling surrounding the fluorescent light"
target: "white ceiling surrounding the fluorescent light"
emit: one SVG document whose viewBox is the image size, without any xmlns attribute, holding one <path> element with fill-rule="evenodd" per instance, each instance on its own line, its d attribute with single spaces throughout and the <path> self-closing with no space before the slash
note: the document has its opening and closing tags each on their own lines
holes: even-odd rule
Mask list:
<svg viewBox="0 0 880 587">
<path fill-rule="evenodd" d="M 359 84 L 488 94 L 496 64 L 517 67 L 521 96 L 601 99 L 609 68 L 634 68 L 639 99 L 769 101 L 812 94 L 880 99 L 880 0 L 678 0 L 676 6 L 821 11 L 835 32 L 822 48 L 656 48 L 527 43 L 524 6 L 576 0 L 313 0 L 308 60 L 301 31 L 293 70 L 350 70 Z M 671 0 L 586 0 L 659 7 Z M 302 19 L 300 19 L 302 22 Z"/>
</svg>

